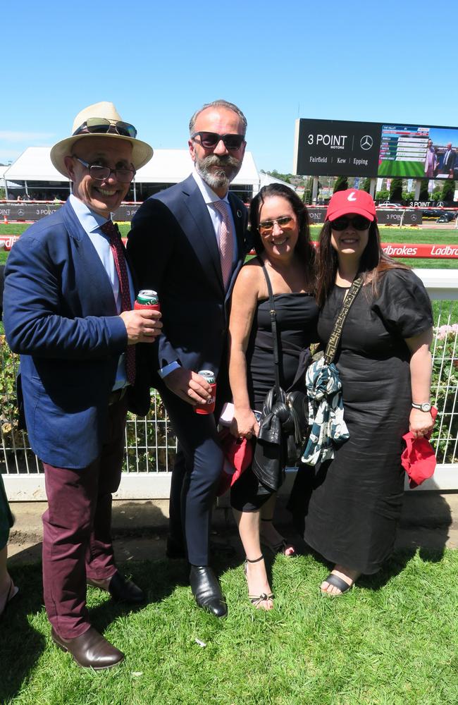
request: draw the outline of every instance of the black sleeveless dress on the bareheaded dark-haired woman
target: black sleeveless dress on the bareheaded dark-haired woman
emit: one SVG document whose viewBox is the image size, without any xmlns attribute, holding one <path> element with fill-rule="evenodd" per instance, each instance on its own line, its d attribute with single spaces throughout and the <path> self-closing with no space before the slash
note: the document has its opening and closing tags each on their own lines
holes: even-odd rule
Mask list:
<svg viewBox="0 0 458 705">
<path fill-rule="evenodd" d="M 285 391 L 305 391 L 307 348 L 317 340 L 318 307 L 311 294 L 274 295 L 277 329 L 282 348 L 280 384 Z M 273 338 L 268 299 L 257 303 L 247 346 L 247 388 L 252 409 L 261 411 L 266 393 L 275 384 Z M 271 496 L 247 468 L 233 484 L 230 501 L 240 511 L 256 511 Z"/>
</svg>

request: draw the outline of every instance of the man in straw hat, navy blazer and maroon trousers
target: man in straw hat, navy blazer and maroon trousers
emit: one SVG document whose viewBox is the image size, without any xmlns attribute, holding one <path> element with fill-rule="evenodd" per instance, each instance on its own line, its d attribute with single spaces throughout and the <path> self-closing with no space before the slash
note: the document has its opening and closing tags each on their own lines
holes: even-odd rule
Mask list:
<svg viewBox="0 0 458 705">
<path fill-rule="evenodd" d="M 111 103 L 81 111 L 51 161 L 73 181 L 54 214 L 20 236 L 5 271 L 4 325 L 20 353 L 18 396 L 42 460 L 44 603 L 51 637 L 80 666 L 123 660 L 89 622 L 86 584 L 138 603 L 116 569 L 111 497 L 118 489 L 128 409 L 146 413 L 137 343 L 159 335 L 159 314 L 131 310 L 135 288 L 110 219 L 153 150 Z"/>
</svg>

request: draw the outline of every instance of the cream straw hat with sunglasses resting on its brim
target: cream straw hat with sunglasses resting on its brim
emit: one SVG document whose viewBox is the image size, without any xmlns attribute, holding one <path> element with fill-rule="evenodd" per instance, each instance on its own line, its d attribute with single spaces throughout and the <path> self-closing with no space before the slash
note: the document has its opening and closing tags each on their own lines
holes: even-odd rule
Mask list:
<svg viewBox="0 0 458 705">
<path fill-rule="evenodd" d="M 94 128 L 96 130 L 94 132 L 78 132 L 89 118 L 92 118 L 92 121 L 94 121 L 94 118 L 102 118 L 102 121 L 105 123 L 108 120 L 112 131 L 101 132 L 100 130 L 97 131 L 97 128 Z M 125 140 L 130 142 L 132 145 L 132 164 L 135 169 L 140 169 L 140 166 L 147 164 L 147 161 L 153 156 L 153 148 L 147 145 L 146 142 L 136 140 L 135 137 L 116 133 L 116 123 L 123 123 L 123 119 L 120 117 L 113 103 L 104 101 L 87 106 L 87 108 L 78 113 L 73 121 L 72 137 L 67 137 L 66 140 L 57 142 L 51 149 L 51 161 L 53 166 L 55 166 L 57 171 L 63 174 L 63 176 L 68 178 L 68 171 L 64 159 L 72 153 L 75 142 L 79 140 L 89 140 L 91 137 L 110 137 L 111 140 Z M 127 126 L 132 128 L 132 125 Z M 109 125 L 106 125 L 106 127 L 109 128 Z M 132 130 L 135 130 L 135 128 L 132 128 Z"/>
</svg>

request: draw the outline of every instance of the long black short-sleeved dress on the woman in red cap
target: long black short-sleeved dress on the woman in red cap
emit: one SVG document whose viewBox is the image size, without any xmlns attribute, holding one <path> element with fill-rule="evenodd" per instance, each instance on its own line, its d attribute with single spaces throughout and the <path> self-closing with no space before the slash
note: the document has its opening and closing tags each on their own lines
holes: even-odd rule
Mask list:
<svg viewBox="0 0 458 705">
<path fill-rule="evenodd" d="M 320 312 L 323 345 L 345 291 L 335 286 Z M 375 298 L 371 284 L 361 288 L 345 320 L 335 364 L 350 437 L 333 460 L 302 465 L 290 498 L 296 528 L 332 563 L 371 574 L 392 552 L 404 495 L 402 435 L 411 411 L 404 338 L 432 325 L 423 283 L 404 269 L 383 274 Z"/>
</svg>

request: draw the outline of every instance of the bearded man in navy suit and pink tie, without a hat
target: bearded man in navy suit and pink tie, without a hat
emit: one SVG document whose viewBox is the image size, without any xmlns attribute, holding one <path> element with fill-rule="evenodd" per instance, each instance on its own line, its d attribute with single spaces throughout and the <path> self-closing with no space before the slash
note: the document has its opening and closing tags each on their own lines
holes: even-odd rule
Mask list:
<svg viewBox="0 0 458 705">
<path fill-rule="evenodd" d="M 245 116 L 232 103 L 218 100 L 198 110 L 188 142 L 192 175 L 144 202 L 128 237 L 140 286 L 159 293 L 163 315 L 151 372 L 179 443 L 168 556 L 187 555 L 197 604 L 218 617 L 227 607 L 209 567 L 211 508 L 223 465 L 216 419 L 230 399 L 228 301 L 247 254 L 247 212 L 228 189 L 242 165 L 246 129 Z M 194 411 L 211 396 L 198 374 L 204 369 L 216 375 L 214 415 Z"/>
</svg>

